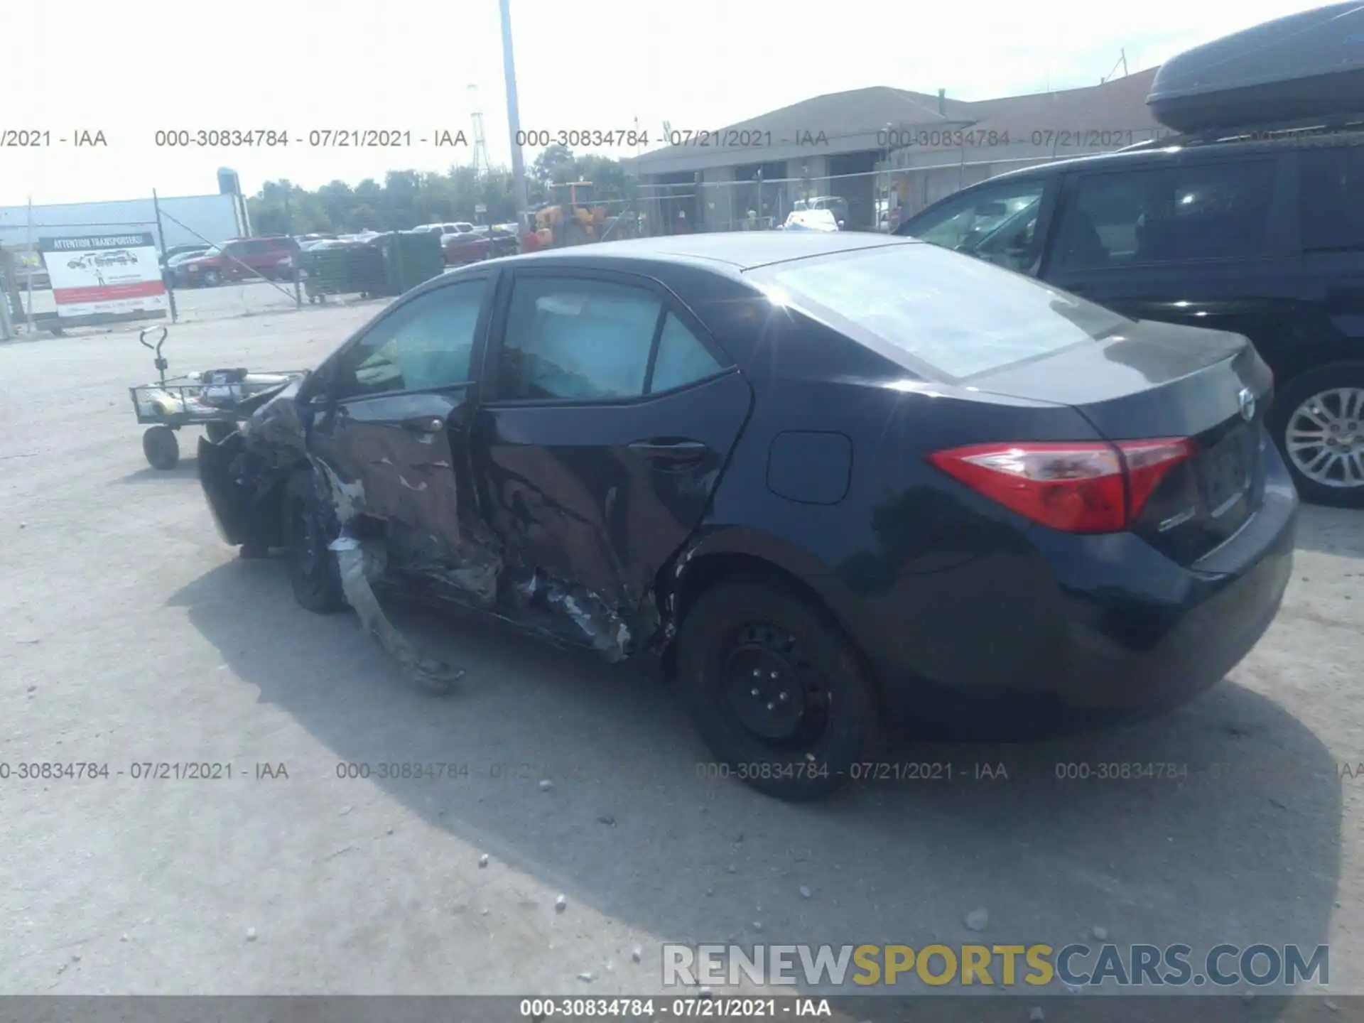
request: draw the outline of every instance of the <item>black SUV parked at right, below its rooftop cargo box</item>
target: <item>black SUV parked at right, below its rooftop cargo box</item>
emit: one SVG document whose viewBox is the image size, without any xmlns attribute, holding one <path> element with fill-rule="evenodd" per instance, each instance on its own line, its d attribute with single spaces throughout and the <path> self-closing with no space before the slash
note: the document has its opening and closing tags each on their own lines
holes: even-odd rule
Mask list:
<svg viewBox="0 0 1364 1023">
<path fill-rule="evenodd" d="M 1364 507 L 1364 124 L 1172 136 L 1013 170 L 902 224 L 1136 319 L 1245 334 L 1301 495 Z"/>
</svg>

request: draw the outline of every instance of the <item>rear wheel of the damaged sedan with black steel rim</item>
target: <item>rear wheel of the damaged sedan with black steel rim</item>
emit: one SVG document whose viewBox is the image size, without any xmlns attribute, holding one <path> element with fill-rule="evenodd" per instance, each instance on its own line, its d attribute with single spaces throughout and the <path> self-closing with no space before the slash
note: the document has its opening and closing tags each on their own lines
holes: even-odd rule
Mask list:
<svg viewBox="0 0 1364 1023">
<path fill-rule="evenodd" d="M 881 745 L 858 652 L 822 608 L 775 580 L 738 577 L 697 599 L 678 636 L 677 679 L 717 761 L 707 777 L 817 799 Z"/>
</svg>

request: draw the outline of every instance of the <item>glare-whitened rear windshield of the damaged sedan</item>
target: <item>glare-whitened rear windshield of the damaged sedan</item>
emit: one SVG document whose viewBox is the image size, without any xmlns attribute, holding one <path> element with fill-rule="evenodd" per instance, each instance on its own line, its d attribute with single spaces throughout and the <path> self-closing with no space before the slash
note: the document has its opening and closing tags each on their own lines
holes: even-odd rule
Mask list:
<svg viewBox="0 0 1364 1023">
<path fill-rule="evenodd" d="M 1132 322 L 923 243 L 795 259 L 749 277 L 773 299 L 907 368 L 951 379 L 1095 341 Z"/>
</svg>

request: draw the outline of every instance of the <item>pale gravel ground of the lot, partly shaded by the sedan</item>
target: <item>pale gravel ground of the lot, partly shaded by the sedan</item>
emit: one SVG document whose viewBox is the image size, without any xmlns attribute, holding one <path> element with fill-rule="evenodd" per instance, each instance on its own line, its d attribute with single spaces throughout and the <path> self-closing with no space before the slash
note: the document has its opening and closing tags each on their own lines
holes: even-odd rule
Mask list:
<svg viewBox="0 0 1364 1023">
<path fill-rule="evenodd" d="M 166 355 L 310 366 L 375 308 L 183 323 Z M 1331 990 L 1364 993 L 1359 514 L 1305 509 L 1278 621 L 1188 707 L 1098 737 L 906 749 L 958 777 L 790 806 L 700 780 L 667 687 L 588 655 L 400 610 L 468 670 L 445 698 L 405 686 L 352 617 L 304 612 L 280 563 L 220 543 L 192 430 L 180 468 L 147 468 L 125 390 L 146 356 L 128 331 L 0 346 L 0 764 L 110 768 L 0 780 L 0 992 L 647 993 L 663 941 L 1063 945 L 1099 928 L 1200 951 L 1330 943 Z M 147 761 L 232 777 L 135 780 Z M 466 773 L 338 777 L 390 761 Z M 1189 773 L 1056 777 L 1099 761 Z M 1007 779 L 974 780 L 977 762 Z"/>
</svg>

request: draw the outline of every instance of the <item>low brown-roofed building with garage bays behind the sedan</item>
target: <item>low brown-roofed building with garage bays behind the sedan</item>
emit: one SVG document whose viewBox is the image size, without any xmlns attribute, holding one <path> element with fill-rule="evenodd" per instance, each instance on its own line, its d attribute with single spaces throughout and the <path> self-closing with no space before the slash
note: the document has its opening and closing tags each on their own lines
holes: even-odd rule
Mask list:
<svg viewBox="0 0 1364 1023">
<path fill-rule="evenodd" d="M 847 229 L 893 226 L 1004 170 L 1110 151 L 1159 130 L 1155 70 L 1084 89 L 963 101 L 876 86 L 818 95 L 625 161 L 663 229 L 780 224 L 801 199 L 842 196 Z"/>
</svg>

